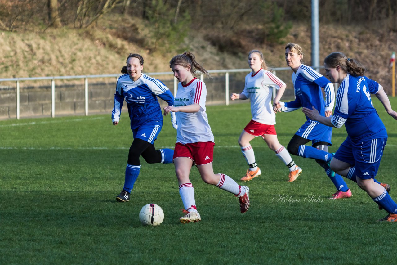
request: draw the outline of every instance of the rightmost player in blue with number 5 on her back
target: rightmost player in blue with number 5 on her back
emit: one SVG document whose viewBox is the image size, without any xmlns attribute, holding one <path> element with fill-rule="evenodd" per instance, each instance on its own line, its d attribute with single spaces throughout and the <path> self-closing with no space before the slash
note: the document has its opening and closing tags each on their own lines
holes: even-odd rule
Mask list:
<svg viewBox="0 0 397 265">
<path fill-rule="evenodd" d="M 397 221 L 397 204 L 391 199 L 385 186 L 374 181 L 387 141 L 386 128 L 371 101 L 375 94 L 387 113 L 397 120 L 397 113 L 391 109 L 389 98 L 382 85 L 364 76 L 365 68 L 357 60 L 347 58 L 341 52 L 333 52 L 324 60 L 327 76 L 338 83 L 335 113 L 324 117 L 318 110 L 303 108 L 311 120 L 326 126 L 341 128 L 345 124 L 347 138 L 335 153 L 331 168 L 347 178 L 355 180 L 358 186 L 378 203 L 380 209 L 389 213 L 380 221 Z"/>
</svg>

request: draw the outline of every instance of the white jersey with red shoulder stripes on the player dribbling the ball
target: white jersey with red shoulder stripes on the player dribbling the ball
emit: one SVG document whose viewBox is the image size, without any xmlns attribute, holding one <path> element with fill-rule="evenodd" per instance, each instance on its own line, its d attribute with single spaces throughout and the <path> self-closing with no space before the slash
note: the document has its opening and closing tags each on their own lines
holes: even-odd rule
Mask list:
<svg viewBox="0 0 397 265">
<path fill-rule="evenodd" d="M 205 101 L 207 97 L 207 88 L 204 82 L 193 78 L 188 84 L 178 84 L 178 90 L 174 100 L 174 106 L 187 106 L 194 103 L 200 105 L 198 112 L 175 112 L 178 124 L 176 141 L 177 143 L 197 143 L 197 142 L 214 142 L 214 135 L 208 124 L 207 114 L 205 112 Z"/>
</svg>

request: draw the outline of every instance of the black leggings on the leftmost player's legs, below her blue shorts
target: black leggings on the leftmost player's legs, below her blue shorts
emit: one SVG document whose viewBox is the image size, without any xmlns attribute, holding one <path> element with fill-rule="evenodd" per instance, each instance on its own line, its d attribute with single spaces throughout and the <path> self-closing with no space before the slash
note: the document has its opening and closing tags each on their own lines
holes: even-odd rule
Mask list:
<svg viewBox="0 0 397 265">
<path fill-rule="evenodd" d="M 162 159 L 160 150 L 156 150 L 154 145 L 142 139 L 135 138 L 129 148 L 127 163 L 132 166 L 139 166 L 141 164 L 139 161 L 141 155 L 148 164 L 160 163 Z"/>
</svg>

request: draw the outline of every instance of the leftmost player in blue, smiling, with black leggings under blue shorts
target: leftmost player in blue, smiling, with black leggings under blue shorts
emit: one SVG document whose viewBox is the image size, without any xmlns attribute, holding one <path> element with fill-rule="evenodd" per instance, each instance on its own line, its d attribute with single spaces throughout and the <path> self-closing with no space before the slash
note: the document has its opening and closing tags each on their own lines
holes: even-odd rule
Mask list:
<svg viewBox="0 0 397 265">
<path fill-rule="evenodd" d="M 127 102 L 133 142 L 129 149 L 127 167 L 125 168 L 125 182 L 117 201 L 129 201 L 134 183 L 139 176 L 141 163 L 139 157 L 146 162 L 172 163 L 173 150 L 154 148 L 154 140 L 163 126 L 163 116 L 157 97 L 173 104 L 173 95 L 159 80 L 142 73 L 143 58 L 139 54 L 129 54 L 127 66 L 121 69 L 114 94 L 114 108 L 112 111 L 113 125 L 120 120 L 121 107 Z M 176 122 L 175 122 L 176 124 Z"/>
</svg>

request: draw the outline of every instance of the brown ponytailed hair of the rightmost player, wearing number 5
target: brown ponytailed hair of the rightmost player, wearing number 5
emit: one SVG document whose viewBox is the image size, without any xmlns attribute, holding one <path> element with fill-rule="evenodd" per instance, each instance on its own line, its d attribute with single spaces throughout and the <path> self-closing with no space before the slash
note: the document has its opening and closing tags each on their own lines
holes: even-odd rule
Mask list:
<svg viewBox="0 0 397 265">
<path fill-rule="evenodd" d="M 355 76 L 363 76 L 365 67 L 355 59 L 347 58 L 345 54 L 341 52 L 332 52 L 325 59 L 326 63 L 331 68 L 335 68 L 337 65 L 346 73 Z"/>
</svg>

